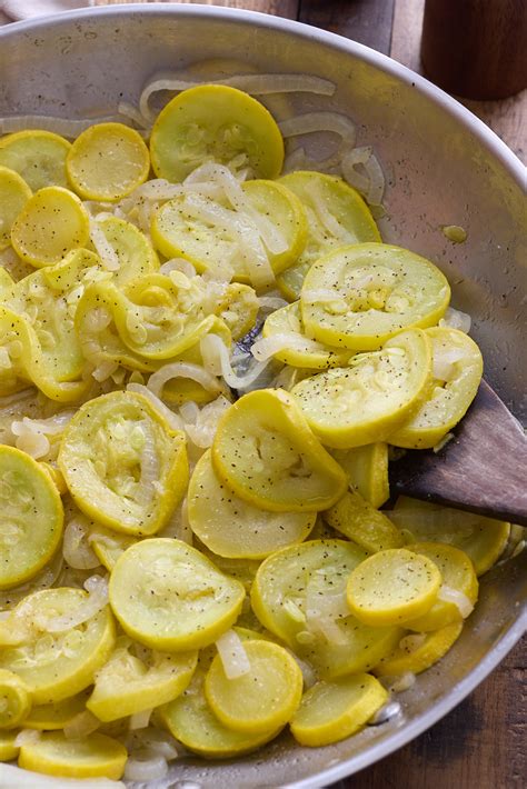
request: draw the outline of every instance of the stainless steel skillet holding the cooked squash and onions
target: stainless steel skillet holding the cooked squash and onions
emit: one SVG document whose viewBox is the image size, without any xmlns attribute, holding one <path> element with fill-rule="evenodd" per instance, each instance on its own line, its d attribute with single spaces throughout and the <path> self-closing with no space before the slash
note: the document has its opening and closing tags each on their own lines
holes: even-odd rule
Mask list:
<svg viewBox="0 0 527 789">
<path fill-rule="evenodd" d="M 331 99 L 288 99 L 291 111 L 335 108 L 356 120 L 359 141 L 376 147 L 388 174 L 385 239 L 443 268 L 454 306 L 473 316 L 487 379 L 525 419 L 525 169 L 474 116 L 404 67 L 337 36 L 257 13 L 209 6 L 89 9 L 0 30 L 0 114 L 100 114 L 120 98 L 137 100 L 155 72 L 197 57 L 337 83 Z M 463 226 L 467 242 L 451 244 L 443 224 Z M 215 789 L 318 787 L 387 756 L 459 703 L 520 638 L 526 569 L 524 553 L 484 578 L 464 635 L 437 670 L 400 697 L 401 717 L 325 749 L 284 738 L 232 763 L 178 765 L 172 780 Z"/>
</svg>

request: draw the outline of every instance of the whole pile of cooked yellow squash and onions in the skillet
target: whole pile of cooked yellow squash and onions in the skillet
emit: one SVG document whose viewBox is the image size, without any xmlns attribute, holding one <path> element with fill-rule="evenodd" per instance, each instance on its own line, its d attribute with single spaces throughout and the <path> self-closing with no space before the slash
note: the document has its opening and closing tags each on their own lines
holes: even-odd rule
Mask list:
<svg viewBox="0 0 527 789">
<path fill-rule="evenodd" d="M 329 92 L 292 77 L 277 112 Z M 0 138 L 0 759 L 58 776 L 352 735 L 520 539 L 379 509 L 483 361 L 441 271 L 381 242 L 349 119 L 278 126 L 238 89 L 270 92 L 257 74 L 178 84 L 123 108 L 142 130 Z M 281 174 L 311 132 L 338 157 Z"/>
</svg>

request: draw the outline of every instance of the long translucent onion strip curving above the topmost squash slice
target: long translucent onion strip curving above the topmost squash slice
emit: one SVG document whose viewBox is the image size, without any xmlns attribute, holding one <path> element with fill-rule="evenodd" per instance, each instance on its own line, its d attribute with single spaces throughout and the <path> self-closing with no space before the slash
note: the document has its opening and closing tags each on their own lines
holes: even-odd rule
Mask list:
<svg viewBox="0 0 527 789">
<path fill-rule="evenodd" d="M 159 73 L 142 89 L 139 98 L 139 109 L 145 118 L 153 120 L 149 101 L 153 93 L 161 90 L 179 92 L 195 88 L 199 84 L 226 84 L 238 88 L 252 96 L 268 96 L 272 93 L 317 93 L 319 96 L 332 96 L 336 90 L 334 82 L 314 77 L 312 74 L 233 74 L 223 79 L 196 80 L 186 79 L 181 72 Z"/>
</svg>

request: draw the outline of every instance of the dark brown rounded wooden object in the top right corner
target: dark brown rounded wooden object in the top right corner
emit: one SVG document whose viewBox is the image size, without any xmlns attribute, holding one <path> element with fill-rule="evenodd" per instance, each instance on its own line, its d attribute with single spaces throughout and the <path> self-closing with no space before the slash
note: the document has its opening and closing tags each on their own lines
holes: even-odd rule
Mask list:
<svg viewBox="0 0 527 789">
<path fill-rule="evenodd" d="M 525 0 L 426 0 L 421 59 L 449 93 L 505 99 L 527 88 Z"/>
</svg>

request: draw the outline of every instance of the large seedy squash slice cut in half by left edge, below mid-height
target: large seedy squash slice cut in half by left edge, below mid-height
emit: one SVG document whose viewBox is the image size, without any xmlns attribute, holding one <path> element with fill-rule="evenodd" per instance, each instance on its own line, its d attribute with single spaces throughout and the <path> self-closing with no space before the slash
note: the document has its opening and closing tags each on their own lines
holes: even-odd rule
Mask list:
<svg viewBox="0 0 527 789">
<path fill-rule="evenodd" d="M 0 445 L 0 589 L 24 583 L 51 559 L 64 512 L 46 471 L 26 452 Z"/>
</svg>

